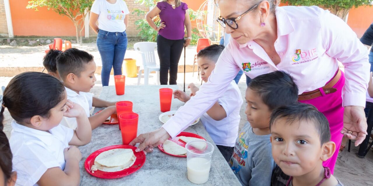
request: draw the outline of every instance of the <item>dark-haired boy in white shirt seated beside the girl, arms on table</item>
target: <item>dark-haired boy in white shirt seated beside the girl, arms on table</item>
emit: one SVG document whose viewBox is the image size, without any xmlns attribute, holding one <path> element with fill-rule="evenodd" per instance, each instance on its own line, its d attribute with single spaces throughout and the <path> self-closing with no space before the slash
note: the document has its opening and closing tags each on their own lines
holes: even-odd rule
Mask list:
<svg viewBox="0 0 373 186">
<path fill-rule="evenodd" d="M 68 99 L 82 106 L 90 120 L 92 129 L 100 126 L 109 116 L 116 113 L 115 102 L 108 102 L 94 98 L 89 93 L 94 86 L 96 77 L 96 64 L 93 55 L 88 52 L 70 48 L 57 56 L 57 70 L 65 85 Z M 95 107 L 106 107 L 100 113 L 90 116 L 90 109 Z M 67 118 L 61 122 L 62 125 L 76 129 L 76 119 Z"/>
</svg>

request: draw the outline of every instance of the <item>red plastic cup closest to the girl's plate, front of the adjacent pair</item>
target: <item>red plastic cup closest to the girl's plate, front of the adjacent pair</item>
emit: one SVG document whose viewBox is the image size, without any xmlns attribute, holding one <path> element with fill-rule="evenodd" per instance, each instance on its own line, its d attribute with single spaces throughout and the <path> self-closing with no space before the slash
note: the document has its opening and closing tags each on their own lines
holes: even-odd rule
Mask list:
<svg viewBox="0 0 373 186">
<path fill-rule="evenodd" d="M 139 115 L 134 112 L 122 113 L 119 115 L 119 125 L 122 130 L 123 145 L 128 145 L 132 140 L 137 137 L 137 124 Z"/>
</svg>

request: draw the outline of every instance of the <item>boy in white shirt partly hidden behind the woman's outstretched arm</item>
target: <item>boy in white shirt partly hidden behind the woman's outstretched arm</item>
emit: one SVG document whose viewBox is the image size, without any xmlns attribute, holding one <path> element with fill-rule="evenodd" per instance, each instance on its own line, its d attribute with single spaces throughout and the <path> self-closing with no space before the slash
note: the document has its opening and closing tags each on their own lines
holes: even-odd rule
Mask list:
<svg viewBox="0 0 373 186">
<path fill-rule="evenodd" d="M 198 67 L 201 68 L 201 78 L 204 82 L 207 82 L 210 77 L 223 49 L 223 45 L 210 45 L 198 52 L 197 63 Z M 199 90 L 193 83 L 189 84 L 188 88 L 191 89 L 191 96 Z M 175 98 L 182 102 L 187 102 L 190 99 L 190 96 L 180 90 L 175 90 L 173 94 Z M 227 162 L 233 154 L 239 120 L 241 119 L 239 110 L 242 103 L 241 92 L 235 81 L 232 81 L 223 96 L 201 116 L 202 124 Z"/>
</svg>

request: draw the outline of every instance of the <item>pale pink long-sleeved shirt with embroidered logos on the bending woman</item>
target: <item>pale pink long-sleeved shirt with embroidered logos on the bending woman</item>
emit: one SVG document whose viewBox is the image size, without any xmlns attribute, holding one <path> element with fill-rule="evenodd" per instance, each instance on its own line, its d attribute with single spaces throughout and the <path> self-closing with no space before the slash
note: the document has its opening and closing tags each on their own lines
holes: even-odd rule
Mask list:
<svg viewBox="0 0 373 186">
<path fill-rule="evenodd" d="M 325 86 L 341 61 L 346 77 L 342 106 L 365 107 L 370 67 L 368 51 L 342 19 L 316 6 L 282 6 L 276 7 L 276 20 L 278 38 L 274 45 L 281 62 L 275 65 L 255 41 L 239 45 L 231 38 L 199 94 L 162 126 L 171 137 L 205 113 L 223 95 L 240 69 L 251 78 L 283 70 L 295 78 L 301 94 Z"/>
</svg>

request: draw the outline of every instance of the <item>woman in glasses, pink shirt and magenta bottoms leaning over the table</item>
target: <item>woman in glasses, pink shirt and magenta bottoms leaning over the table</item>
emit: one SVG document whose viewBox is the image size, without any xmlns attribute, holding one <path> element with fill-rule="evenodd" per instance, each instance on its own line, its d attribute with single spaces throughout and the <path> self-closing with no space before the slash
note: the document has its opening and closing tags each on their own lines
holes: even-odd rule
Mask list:
<svg viewBox="0 0 373 186">
<path fill-rule="evenodd" d="M 356 140 L 355 145 L 364 140 L 368 53 L 343 20 L 316 6 L 277 7 L 279 0 L 216 3 L 221 15 L 217 20 L 231 34 L 230 43 L 197 95 L 162 128 L 132 141 L 141 142 L 137 150 L 151 151 L 187 128 L 216 102 L 240 69 L 250 78 L 276 70 L 291 74 L 300 102 L 316 106 L 329 120 L 336 149 L 343 135 Z M 337 157 L 338 150 L 324 166 L 333 171 Z"/>
</svg>

